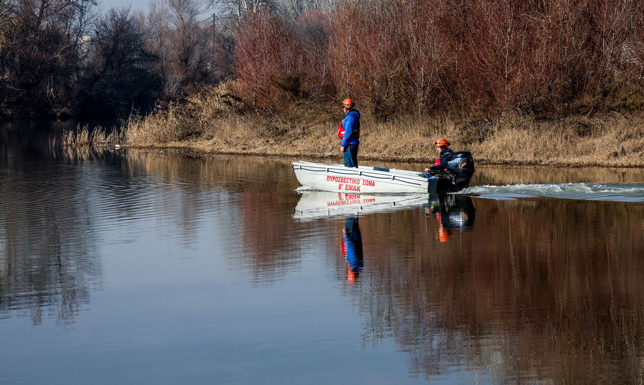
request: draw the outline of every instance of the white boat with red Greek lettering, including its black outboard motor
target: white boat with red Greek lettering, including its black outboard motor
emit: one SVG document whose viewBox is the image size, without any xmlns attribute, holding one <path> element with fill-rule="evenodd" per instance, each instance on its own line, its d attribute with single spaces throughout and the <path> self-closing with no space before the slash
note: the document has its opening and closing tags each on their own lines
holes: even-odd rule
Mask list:
<svg viewBox="0 0 644 385">
<path fill-rule="evenodd" d="M 450 161 L 437 175 L 372 166 L 345 167 L 330 163 L 292 162 L 299 183 L 315 190 L 343 193 L 446 193 L 469 185 L 474 172 L 471 154 L 466 151 Z"/>
</svg>

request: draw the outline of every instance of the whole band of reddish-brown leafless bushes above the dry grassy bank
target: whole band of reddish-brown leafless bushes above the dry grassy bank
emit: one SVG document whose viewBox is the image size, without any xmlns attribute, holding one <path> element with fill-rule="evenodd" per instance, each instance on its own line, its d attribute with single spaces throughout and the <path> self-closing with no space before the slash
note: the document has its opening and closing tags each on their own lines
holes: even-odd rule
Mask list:
<svg viewBox="0 0 644 385">
<path fill-rule="evenodd" d="M 236 74 L 260 107 L 350 96 L 375 118 L 638 109 L 643 30 L 638 0 L 346 1 L 295 21 L 249 15 Z"/>
</svg>

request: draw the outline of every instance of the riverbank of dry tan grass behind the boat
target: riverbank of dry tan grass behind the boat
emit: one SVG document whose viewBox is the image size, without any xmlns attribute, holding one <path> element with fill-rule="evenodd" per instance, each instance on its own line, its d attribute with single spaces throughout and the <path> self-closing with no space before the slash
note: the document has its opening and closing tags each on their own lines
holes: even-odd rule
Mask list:
<svg viewBox="0 0 644 385">
<path fill-rule="evenodd" d="M 109 136 L 100 127 L 67 132 L 70 146 L 176 148 L 212 154 L 306 157 L 341 163 L 341 112 L 316 106 L 281 114 L 249 111 L 225 86 L 209 87 L 179 105 L 133 116 Z M 336 113 L 337 112 L 337 113 Z M 433 163 L 437 138 L 469 150 L 479 165 L 644 166 L 644 114 L 618 112 L 545 119 L 403 116 L 375 122 L 363 111 L 359 159 Z"/>
</svg>

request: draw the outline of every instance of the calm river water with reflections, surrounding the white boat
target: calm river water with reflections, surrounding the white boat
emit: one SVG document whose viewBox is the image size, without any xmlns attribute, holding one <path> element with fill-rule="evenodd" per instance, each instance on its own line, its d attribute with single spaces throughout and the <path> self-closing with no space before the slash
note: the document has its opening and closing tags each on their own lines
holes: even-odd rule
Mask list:
<svg viewBox="0 0 644 385">
<path fill-rule="evenodd" d="M 0 128 L 0 383 L 644 381 L 643 170 L 338 195 L 64 126 Z"/>
</svg>

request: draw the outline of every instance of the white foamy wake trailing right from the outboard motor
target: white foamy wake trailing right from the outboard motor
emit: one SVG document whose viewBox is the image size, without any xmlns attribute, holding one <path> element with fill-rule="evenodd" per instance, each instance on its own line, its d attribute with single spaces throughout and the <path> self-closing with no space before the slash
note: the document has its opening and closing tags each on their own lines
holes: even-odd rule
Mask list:
<svg viewBox="0 0 644 385">
<path fill-rule="evenodd" d="M 549 197 L 600 201 L 644 202 L 644 183 L 554 183 L 474 186 L 459 194 L 491 199 Z"/>
</svg>

